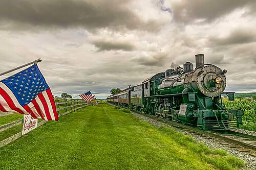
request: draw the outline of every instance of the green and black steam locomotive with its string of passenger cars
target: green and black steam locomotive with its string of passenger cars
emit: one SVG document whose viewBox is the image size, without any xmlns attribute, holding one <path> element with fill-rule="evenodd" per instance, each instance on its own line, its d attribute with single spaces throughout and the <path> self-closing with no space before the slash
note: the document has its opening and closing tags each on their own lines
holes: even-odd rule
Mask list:
<svg viewBox="0 0 256 170">
<path fill-rule="evenodd" d="M 204 64 L 196 55 L 196 68 L 186 62 L 129 86 L 107 98 L 110 103 L 162 118 L 197 126 L 201 130 L 229 130 L 242 125 L 241 108 L 227 108 L 222 96 L 234 100 L 234 92 L 224 92 L 227 70 Z"/>
</svg>

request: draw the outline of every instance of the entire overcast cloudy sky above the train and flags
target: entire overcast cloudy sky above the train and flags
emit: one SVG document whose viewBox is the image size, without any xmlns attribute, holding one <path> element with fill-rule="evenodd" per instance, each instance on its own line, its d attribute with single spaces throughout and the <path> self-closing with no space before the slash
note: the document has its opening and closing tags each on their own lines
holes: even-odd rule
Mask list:
<svg viewBox="0 0 256 170">
<path fill-rule="evenodd" d="M 255 17 L 253 0 L 1 0 L 0 72 L 41 58 L 54 95 L 101 98 L 203 53 L 252 92 Z"/>
</svg>

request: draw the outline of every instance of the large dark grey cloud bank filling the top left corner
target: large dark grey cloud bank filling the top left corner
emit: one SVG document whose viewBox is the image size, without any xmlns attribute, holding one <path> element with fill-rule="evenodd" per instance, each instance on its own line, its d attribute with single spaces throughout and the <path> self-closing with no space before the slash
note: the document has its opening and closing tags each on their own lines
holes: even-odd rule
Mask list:
<svg viewBox="0 0 256 170">
<path fill-rule="evenodd" d="M 128 7 L 125 0 L 1 0 L 0 28 L 31 29 L 31 26 L 73 28 L 152 29 Z M 154 27 L 153 27 L 154 28 Z"/>
</svg>

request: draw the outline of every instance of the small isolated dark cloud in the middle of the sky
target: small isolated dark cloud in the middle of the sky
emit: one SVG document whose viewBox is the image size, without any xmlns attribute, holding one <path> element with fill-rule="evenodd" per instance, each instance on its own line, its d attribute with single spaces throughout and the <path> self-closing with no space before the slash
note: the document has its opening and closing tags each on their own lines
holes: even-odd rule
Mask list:
<svg viewBox="0 0 256 170">
<path fill-rule="evenodd" d="M 98 48 L 99 52 L 111 50 L 132 51 L 135 48 L 135 46 L 130 42 L 96 40 L 92 43 Z"/>
</svg>

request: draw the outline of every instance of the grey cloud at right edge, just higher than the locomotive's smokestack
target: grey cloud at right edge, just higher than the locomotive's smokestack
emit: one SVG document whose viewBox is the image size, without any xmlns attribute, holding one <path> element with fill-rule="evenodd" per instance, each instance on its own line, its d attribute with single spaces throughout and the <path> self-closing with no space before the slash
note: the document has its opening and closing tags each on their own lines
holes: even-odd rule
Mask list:
<svg viewBox="0 0 256 170">
<path fill-rule="evenodd" d="M 225 37 L 210 37 L 210 45 L 232 45 L 232 44 L 244 44 L 256 41 L 256 35 L 252 32 L 253 29 L 237 29 L 231 31 L 228 36 Z"/>
</svg>

